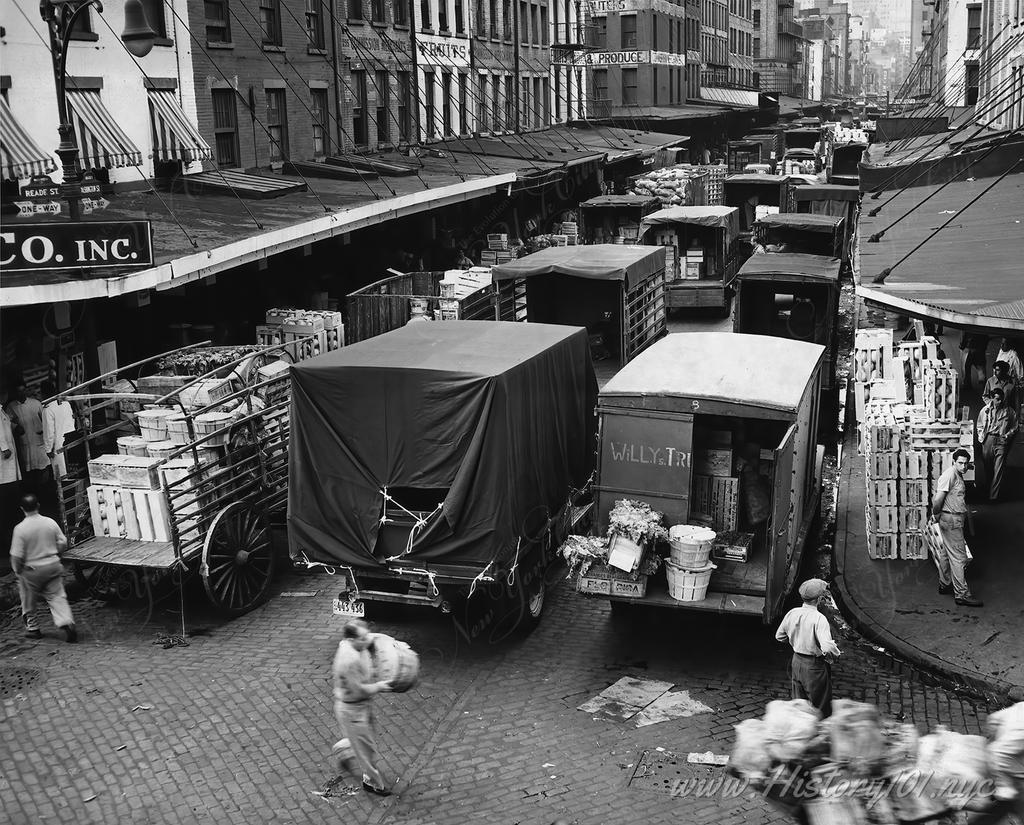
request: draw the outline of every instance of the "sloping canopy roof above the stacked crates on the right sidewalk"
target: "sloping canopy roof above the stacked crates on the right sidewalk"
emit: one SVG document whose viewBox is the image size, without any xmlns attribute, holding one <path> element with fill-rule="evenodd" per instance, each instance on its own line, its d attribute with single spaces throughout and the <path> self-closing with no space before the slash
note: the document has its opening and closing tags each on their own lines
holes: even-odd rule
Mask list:
<svg viewBox="0 0 1024 825">
<path fill-rule="evenodd" d="M 1019 307 L 1024 297 L 1024 174 L 939 188 L 886 191 L 877 202 L 882 205 L 878 215 L 861 213 L 858 294 L 903 314 L 1024 333 Z M 975 198 L 978 202 L 968 207 Z M 902 219 L 887 228 L 897 218 Z M 882 229 L 886 232 L 879 243 L 867 242 Z M 872 283 L 887 267 L 894 268 L 885 283 Z"/>
</svg>

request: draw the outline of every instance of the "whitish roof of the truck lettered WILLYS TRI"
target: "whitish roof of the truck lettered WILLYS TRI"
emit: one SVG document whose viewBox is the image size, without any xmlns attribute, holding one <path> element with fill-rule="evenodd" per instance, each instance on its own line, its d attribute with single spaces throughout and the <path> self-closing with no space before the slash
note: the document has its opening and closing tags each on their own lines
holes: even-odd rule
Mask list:
<svg viewBox="0 0 1024 825">
<path fill-rule="evenodd" d="M 620 370 L 599 397 L 677 396 L 794 411 L 823 352 L 771 336 L 676 333 Z"/>
</svg>

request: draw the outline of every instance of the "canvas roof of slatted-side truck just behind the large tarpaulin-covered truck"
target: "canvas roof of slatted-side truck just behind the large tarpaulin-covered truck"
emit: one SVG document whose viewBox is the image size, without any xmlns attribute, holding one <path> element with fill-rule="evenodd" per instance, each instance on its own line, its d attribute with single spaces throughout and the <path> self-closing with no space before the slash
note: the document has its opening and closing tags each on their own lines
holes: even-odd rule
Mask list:
<svg viewBox="0 0 1024 825">
<path fill-rule="evenodd" d="M 593 280 L 623 280 L 632 289 L 665 268 L 659 247 L 593 244 L 585 247 L 548 247 L 525 258 L 490 270 L 495 281 L 535 275 L 572 275 Z"/>
</svg>

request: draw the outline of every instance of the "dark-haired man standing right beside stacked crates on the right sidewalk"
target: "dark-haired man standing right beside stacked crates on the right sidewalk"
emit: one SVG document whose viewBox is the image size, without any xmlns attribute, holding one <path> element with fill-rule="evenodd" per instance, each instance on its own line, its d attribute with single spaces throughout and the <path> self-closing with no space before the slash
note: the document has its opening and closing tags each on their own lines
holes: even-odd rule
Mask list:
<svg viewBox="0 0 1024 825">
<path fill-rule="evenodd" d="M 935 545 L 935 565 L 939 568 L 939 593 L 952 594 L 954 601 L 965 607 L 981 607 L 967 585 L 964 568 L 967 566 L 967 540 L 964 538 L 964 519 L 967 518 L 967 472 L 971 453 L 966 449 L 953 451 L 953 464 L 936 484 L 932 500 L 931 529 L 938 522 L 942 540 Z"/>
</svg>

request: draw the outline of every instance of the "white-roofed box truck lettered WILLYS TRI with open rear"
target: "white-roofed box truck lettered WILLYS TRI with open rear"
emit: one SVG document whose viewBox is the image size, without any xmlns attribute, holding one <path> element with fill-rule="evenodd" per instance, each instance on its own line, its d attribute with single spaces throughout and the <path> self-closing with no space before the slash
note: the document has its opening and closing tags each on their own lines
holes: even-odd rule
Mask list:
<svg viewBox="0 0 1024 825">
<path fill-rule="evenodd" d="M 598 533 L 606 531 L 614 503 L 626 498 L 664 513 L 666 526 L 706 524 L 731 536 L 728 547 L 712 550 L 718 567 L 703 599 L 673 598 L 663 567 L 644 582 L 642 597 L 607 595 L 613 607 L 778 617 L 817 512 L 823 360 L 824 347 L 802 341 L 677 333 L 602 388 Z"/>
</svg>

